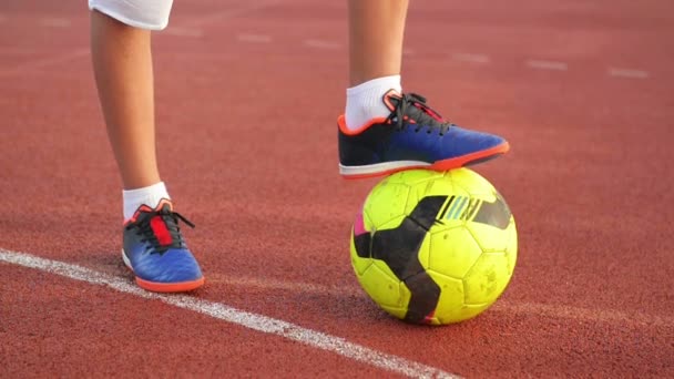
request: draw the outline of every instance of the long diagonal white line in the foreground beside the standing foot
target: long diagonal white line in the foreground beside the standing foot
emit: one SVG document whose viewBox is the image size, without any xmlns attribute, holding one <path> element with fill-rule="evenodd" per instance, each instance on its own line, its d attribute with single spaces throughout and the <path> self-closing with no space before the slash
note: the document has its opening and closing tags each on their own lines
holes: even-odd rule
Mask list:
<svg viewBox="0 0 674 379">
<path fill-rule="evenodd" d="M 120 293 L 135 295 L 145 299 L 160 300 L 177 308 L 192 310 L 219 320 L 236 324 L 265 334 L 277 335 L 314 348 L 335 352 L 339 356 L 371 365 L 385 370 L 412 378 L 459 378 L 435 367 L 421 365 L 385 352 L 353 344 L 344 338 L 330 336 L 320 331 L 275 318 L 239 310 L 221 303 L 198 299 L 186 295 L 161 295 L 145 291 L 129 280 L 99 273 L 85 267 L 45 258 L 30 254 L 11 252 L 0 248 L 0 262 L 41 272 L 60 275 L 74 280 L 110 287 Z"/>
</svg>

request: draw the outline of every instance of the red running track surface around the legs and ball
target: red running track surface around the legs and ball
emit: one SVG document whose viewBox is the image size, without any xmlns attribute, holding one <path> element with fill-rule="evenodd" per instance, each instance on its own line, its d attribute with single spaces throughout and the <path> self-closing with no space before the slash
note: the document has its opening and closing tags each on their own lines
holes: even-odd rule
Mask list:
<svg viewBox="0 0 674 379">
<path fill-rule="evenodd" d="M 84 8 L 0 4 L 0 249 L 118 287 L 0 263 L 0 376 L 397 375 L 119 290 L 132 277 Z M 197 224 L 186 234 L 208 281 L 193 297 L 398 357 L 411 375 L 418 362 L 477 378 L 674 377 L 672 11 L 412 2 L 404 86 L 508 137 L 512 152 L 477 171 L 508 198 L 521 246 L 493 308 L 422 328 L 379 311 L 349 264 L 375 182 L 337 175 L 346 4 L 176 2 L 155 41 L 159 146 Z"/>
</svg>

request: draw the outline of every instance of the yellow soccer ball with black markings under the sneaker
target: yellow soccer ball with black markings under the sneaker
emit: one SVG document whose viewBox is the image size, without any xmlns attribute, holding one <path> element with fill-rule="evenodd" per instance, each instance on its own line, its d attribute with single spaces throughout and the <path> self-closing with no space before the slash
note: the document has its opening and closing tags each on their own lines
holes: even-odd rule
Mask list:
<svg viewBox="0 0 674 379">
<path fill-rule="evenodd" d="M 503 293 L 518 252 L 510 208 L 468 168 L 404 171 L 377 184 L 351 229 L 365 291 L 412 324 L 472 318 Z"/>
</svg>

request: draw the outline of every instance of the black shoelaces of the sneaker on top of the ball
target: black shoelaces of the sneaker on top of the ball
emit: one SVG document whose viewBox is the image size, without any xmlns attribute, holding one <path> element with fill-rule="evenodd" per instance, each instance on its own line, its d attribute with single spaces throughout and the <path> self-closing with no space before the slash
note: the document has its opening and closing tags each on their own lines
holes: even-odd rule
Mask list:
<svg viewBox="0 0 674 379">
<path fill-rule="evenodd" d="M 443 135 L 449 127 L 450 122 L 442 121 L 442 116 L 426 104 L 426 98 L 416 93 L 404 93 L 397 101 L 396 109 L 387 117 L 387 121 L 395 123 L 397 130 L 402 130 L 406 125 L 405 116 L 415 120 L 415 132 L 419 132 L 423 127 L 428 127 L 427 133 L 432 133 L 438 130 L 440 135 Z"/>
</svg>

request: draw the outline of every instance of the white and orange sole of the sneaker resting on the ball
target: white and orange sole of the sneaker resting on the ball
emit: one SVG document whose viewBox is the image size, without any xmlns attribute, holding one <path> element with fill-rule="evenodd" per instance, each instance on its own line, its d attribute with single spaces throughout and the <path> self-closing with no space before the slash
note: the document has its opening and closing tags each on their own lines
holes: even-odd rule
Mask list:
<svg viewBox="0 0 674 379">
<path fill-rule="evenodd" d="M 346 180 L 359 180 L 390 175 L 399 171 L 413 168 L 448 171 L 496 158 L 499 155 L 506 154 L 509 150 L 510 144 L 508 142 L 504 142 L 500 145 L 487 150 L 457 156 L 453 158 L 437 161 L 435 163 L 421 161 L 395 161 L 368 164 L 365 166 L 345 166 L 343 164 L 339 164 L 339 174 Z"/>
</svg>

